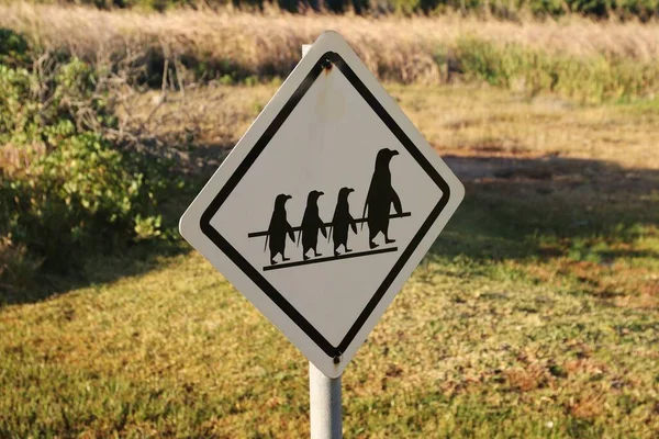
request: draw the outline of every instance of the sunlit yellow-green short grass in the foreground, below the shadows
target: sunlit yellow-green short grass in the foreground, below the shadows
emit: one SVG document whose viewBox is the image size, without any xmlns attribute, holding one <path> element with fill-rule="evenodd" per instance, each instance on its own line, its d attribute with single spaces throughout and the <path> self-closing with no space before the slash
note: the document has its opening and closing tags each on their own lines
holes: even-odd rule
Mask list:
<svg viewBox="0 0 659 439">
<path fill-rule="evenodd" d="M 552 239 L 498 210 L 485 224 L 472 196 L 348 367 L 345 436 L 652 437 L 656 302 L 616 306 L 578 272 L 540 279 L 599 266 L 571 248 L 538 259 Z M 659 250 L 639 227 L 599 240 Z M 616 264 L 657 273 L 656 255 Z M 304 437 L 306 362 L 288 340 L 197 254 L 88 270 L 139 261 L 2 309 L 0 436 Z"/>
</svg>

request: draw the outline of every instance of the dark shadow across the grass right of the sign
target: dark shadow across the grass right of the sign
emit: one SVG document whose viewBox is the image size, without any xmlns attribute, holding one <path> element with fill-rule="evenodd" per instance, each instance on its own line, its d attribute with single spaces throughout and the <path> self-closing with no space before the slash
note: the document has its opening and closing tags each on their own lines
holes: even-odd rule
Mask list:
<svg viewBox="0 0 659 439">
<path fill-rule="evenodd" d="M 550 258 L 599 245 L 604 259 L 659 258 L 658 251 L 606 247 L 632 244 L 659 225 L 659 170 L 558 157 L 445 160 L 467 194 L 432 256 Z"/>
</svg>

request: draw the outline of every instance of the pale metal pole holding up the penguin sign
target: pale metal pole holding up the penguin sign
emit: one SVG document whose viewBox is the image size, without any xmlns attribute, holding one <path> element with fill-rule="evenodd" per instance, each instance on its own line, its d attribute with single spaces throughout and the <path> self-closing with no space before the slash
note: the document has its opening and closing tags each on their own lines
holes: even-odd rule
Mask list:
<svg viewBox="0 0 659 439">
<path fill-rule="evenodd" d="M 311 44 L 302 45 L 302 57 Z M 340 376 L 327 378 L 309 362 L 311 439 L 342 439 Z"/>
</svg>

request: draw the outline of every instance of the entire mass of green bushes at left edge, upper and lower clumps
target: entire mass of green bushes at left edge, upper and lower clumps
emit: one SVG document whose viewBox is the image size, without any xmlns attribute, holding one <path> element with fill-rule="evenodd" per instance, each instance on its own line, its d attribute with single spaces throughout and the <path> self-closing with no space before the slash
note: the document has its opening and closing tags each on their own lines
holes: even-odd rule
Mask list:
<svg viewBox="0 0 659 439">
<path fill-rule="evenodd" d="M 3 54 L 7 53 L 3 49 Z M 42 74 L 43 75 L 43 74 Z M 0 237 L 47 269 L 163 235 L 171 161 L 114 144 L 108 92 L 79 59 L 46 79 L 0 65 Z M 1 272 L 1 270 L 0 270 Z"/>
</svg>

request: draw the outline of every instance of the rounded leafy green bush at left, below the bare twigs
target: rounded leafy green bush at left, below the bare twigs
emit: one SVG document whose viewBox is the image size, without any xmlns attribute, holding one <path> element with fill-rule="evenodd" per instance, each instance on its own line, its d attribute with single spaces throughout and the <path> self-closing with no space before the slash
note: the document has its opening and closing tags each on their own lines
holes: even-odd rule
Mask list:
<svg viewBox="0 0 659 439">
<path fill-rule="evenodd" d="M 5 233 L 48 268 L 160 235 L 157 200 L 168 180 L 136 154 L 120 153 L 98 134 L 66 137 L 0 189 Z"/>
</svg>

